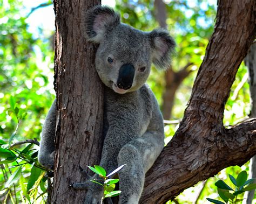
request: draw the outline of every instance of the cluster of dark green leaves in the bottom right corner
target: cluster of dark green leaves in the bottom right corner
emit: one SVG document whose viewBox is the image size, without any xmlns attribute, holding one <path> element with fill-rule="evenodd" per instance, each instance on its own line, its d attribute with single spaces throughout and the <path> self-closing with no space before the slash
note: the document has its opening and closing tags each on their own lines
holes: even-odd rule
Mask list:
<svg viewBox="0 0 256 204">
<path fill-rule="evenodd" d="M 254 179 L 248 179 L 247 180 L 247 172 L 241 171 L 237 179 L 235 179 L 231 174 L 228 174 L 230 180 L 232 181 L 232 184 L 235 186 L 235 188 L 231 188 L 228 186 L 223 180 L 218 180 L 215 182 L 215 186 L 217 186 L 219 197 L 225 202 L 225 203 L 239 203 L 243 199 L 243 194 L 246 191 L 251 191 L 256 188 L 256 184 L 252 184 Z M 230 193 L 232 191 L 232 193 Z M 241 198 L 238 198 L 240 195 Z M 224 202 L 207 198 L 208 201 L 212 203 L 217 204 L 224 204 Z"/>
</svg>

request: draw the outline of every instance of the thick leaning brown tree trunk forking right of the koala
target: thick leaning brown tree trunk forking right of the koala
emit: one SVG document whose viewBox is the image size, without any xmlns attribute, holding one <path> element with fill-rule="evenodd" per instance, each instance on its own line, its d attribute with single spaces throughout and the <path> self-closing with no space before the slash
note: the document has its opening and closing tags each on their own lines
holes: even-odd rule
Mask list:
<svg viewBox="0 0 256 204">
<path fill-rule="evenodd" d="M 223 126 L 225 103 L 255 37 L 254 0 L 218 1 L 217 20 L 183 121 L 147 172 L 140 203 L 164 203 L 256 153 L 256 119 Z"/>
</svg>

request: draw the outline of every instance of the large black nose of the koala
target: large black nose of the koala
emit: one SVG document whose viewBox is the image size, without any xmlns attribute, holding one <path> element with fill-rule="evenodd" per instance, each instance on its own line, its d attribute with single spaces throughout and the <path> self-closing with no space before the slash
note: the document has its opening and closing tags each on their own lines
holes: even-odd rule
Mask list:
<svg viewBox="0 0 256 204">
<path fill-rule="evenodd" d="M 118 88 L 129 89 L 132 87 L 132 82 L 134 78 L 134 67 L 131 64 L 123 65 L 119 70 L 119 75 L 117 79 Z"/>
</svg>

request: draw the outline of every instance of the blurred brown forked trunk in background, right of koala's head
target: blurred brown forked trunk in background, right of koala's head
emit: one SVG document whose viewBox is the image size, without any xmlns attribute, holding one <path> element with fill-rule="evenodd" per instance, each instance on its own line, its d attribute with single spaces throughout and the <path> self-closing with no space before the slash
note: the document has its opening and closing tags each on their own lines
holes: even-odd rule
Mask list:
<svg viewBox="0 0 256 204">
<path fill-rule="evenodd" d="M 156 19 L 163 29 L 167 29 L 166 24 L 166 8 L 163 0 L 154 1 L 154 9 L 156 12 Z M 178 72 L 175 72 L 172 66 L 165 72 L 165 90 L 163 93 L 163 117 L 164 119 L 170 119 L 172 116 L 172 107 L 174 104 L 175 94 L 183 82 L 183 80 L 191 73 L 188 69 L 192 64 L 188 63 L 185 67 L 180 68 Z"/>
</svg>

